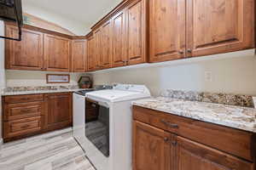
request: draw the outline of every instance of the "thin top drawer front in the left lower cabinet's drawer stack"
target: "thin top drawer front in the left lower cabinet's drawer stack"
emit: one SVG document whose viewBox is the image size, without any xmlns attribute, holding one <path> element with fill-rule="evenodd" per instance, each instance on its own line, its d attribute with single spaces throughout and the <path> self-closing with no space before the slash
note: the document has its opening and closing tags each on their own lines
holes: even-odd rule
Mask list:
<svg viewBox="0 0 256 170">
<path fill-rule="evenodd" d="M 44 101 L 44 94 L 5 96 L 4 102 L 7 104 L 26 103 L 32 101 Z"/>
</svg>

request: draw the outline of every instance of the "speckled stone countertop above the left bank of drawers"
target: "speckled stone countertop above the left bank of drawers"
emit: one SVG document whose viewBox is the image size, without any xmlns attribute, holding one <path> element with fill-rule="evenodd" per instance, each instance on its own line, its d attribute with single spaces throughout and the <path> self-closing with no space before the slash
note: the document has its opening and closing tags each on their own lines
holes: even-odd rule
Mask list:
<svg viewBox="0 0 256 170">
<path fill-rule="evenodd" d="M 15 88 L 3 88 L 0 94 L 2 96 L 26 95 L 26 94 L 50 94 L 50 93 L 75 92 L 79 90 L 84 90 L 84 89 L 81 89 L 78 86 L 15 87 Z"/>
</svg>

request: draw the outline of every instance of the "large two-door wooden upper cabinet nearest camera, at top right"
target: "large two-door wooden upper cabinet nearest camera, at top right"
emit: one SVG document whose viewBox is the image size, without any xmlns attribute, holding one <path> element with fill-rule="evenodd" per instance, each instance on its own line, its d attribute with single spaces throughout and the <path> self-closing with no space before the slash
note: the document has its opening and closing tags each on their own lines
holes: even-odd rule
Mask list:
<svg viewBox="0 0 256 170">
<path fill-rule="evenodd" d="M 221 54 L 254 47 L 253 0 L 149 1 L 149 60 Z"/>
</svg>

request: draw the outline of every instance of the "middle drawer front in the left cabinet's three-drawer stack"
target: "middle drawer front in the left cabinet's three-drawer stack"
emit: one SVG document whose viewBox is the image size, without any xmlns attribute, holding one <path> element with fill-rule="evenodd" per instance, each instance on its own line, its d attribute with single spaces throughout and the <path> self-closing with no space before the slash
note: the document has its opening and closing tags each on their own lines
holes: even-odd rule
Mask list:
<svg viewBox="0 0 256 170">
<path fill-rule="evenodd" d="M 14 121 L 32 116 L 41 116 L 44 113 L 43 102 L 30 102 L 4 105 L 4 121 Z"/>
</svg>

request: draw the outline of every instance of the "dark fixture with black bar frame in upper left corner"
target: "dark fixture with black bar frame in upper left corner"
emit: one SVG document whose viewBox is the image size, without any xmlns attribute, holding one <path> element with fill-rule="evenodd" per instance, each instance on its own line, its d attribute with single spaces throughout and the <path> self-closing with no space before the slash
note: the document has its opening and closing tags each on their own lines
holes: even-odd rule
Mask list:
<svg viewBox="0 0 256 170">
<path fill-rule="evenodd" d="M 0 20 L 13 21 L 19 28 L 19 37 L 2 37 L 9 40 L 21 41 L 21 26 L 23 25 L 21 0 L 0 0 Z"/>
</svg>

